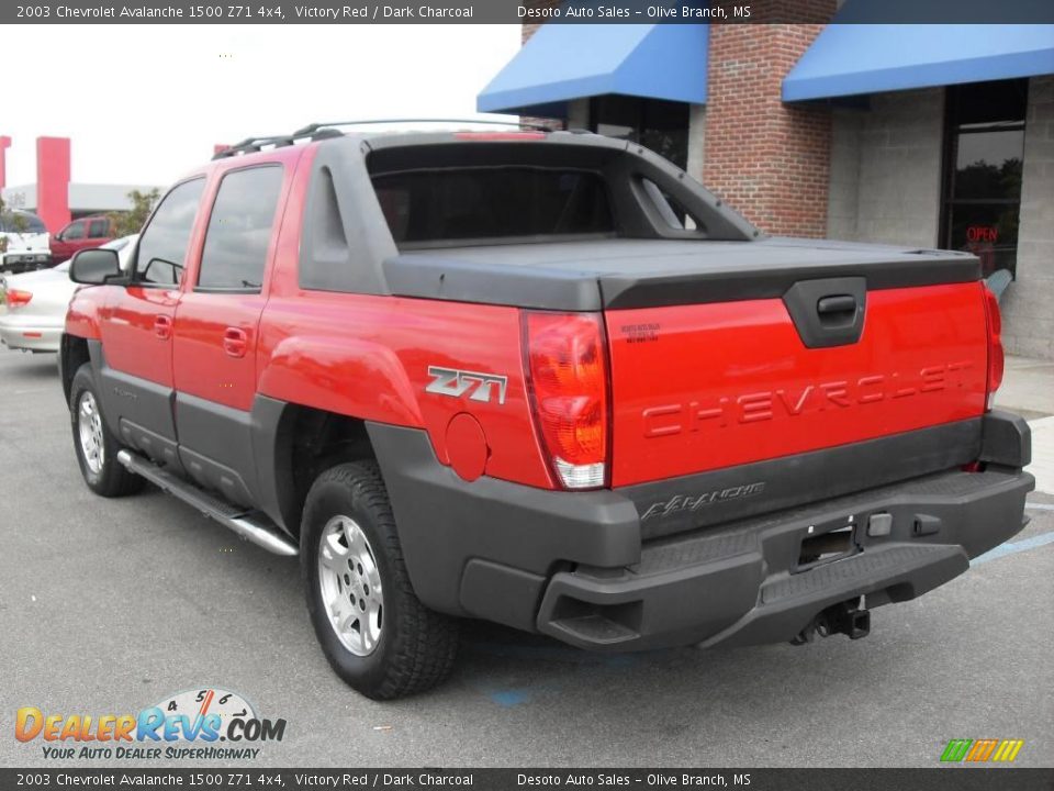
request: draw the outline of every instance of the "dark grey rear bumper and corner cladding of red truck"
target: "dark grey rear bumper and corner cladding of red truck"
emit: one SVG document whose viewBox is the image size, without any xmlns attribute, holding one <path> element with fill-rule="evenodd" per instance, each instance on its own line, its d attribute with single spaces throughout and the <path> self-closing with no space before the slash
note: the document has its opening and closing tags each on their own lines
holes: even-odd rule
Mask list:
<svg viewBox="0 0 1054 791">
<path fill-rule="evenodd" d="M 598 650 L 781 642 L 841 602 L 912 599 L 1017 534 L 1034 487 L 1021 469 L 1030 460 L 1028 425 L 991 413 L 975 425 L 968 449 L 986 464 L 983 472 L 949 466 L 837 497 L 819 493 L 817 482 L 792 506 L 720 524 L 700 515 L 687 530 L 649 537 L 649 501 L 633 492 L 552 492 L 485 477 L 469 483 L 436 460 L 423 432 L 369 431 L 426 604 Z M 694 480 L 673 483 L 707 491 Z M 868 531 L 875 515 L 888 526 L 882 534 Z M 842 555 L 803 560 L 803 541 L 845 530 Z"/>
</svg>

